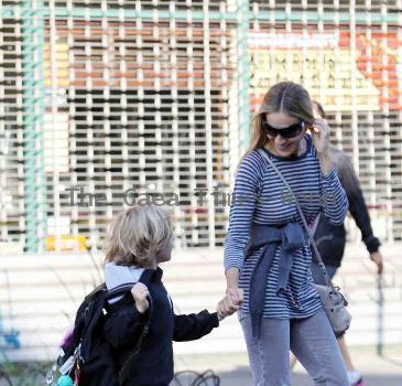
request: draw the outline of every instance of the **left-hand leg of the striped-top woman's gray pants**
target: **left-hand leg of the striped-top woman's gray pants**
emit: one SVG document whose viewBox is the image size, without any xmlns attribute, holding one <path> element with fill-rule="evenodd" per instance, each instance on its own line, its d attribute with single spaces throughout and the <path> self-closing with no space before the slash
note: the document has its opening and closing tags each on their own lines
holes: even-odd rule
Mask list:
<svg viewBox="0 0 402 386">
<path fill-rule="evenodd" d="M 253 385 L 290 386 L 289 320 L 262 319 L 259 340 L 252 337 L 250 315 L 240 313 L 239 320 L 247 343 Z"/>
</svg>

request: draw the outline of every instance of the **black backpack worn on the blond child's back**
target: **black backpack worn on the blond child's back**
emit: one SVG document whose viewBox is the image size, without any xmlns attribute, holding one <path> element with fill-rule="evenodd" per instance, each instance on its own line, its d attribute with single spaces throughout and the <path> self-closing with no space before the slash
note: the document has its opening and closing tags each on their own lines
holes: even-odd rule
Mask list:
<svg viewBox="0 0 402 386">
<path fill-rule="evenodd" d="M 111 345 L 104 336 L 104 326 L 110 313 L 129 303 L 133 304 L 131 288 L 134 283 L 126 283 L 108 291 L 106 283 L 94 289 L 79 305 L 73 334 L 63 345 L 63 354 L 57 358 L 58 371 L 73 380 L 78 378 L 79 386 L 118 386 L 119 368 L 113 360 Z M 122 298 L 110 304 L 108 300 Z M 143 337 L 148 333 L 151 315 L 151 299 L 149 319 L 142 335 L 128 361 L 140 350 Z M 122 368 L 127 367 L 127 362 Z M 54 371 L 54 369 L 53 369 Z M 52 374 L 53 375 L 53 374 Z M 48 385 L 53 384 L 53 379 Z M 52 376 L 53 378 L 53 376 Z"/>
</svg>

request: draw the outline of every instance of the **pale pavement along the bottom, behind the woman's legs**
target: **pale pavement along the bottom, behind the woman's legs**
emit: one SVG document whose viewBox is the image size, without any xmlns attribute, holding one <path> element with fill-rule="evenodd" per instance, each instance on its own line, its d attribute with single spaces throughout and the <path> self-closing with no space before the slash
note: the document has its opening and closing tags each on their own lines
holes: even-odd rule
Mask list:
<svg viewBox="0 0 402 386">
<path fill-rule="evenodd" d="M 365 376 L 365 386 L 402 386 L 402 346 L 388 346 L 379 357 L 372 347 L 350 350 L 356 368 Z M 184 355 L 175 357 L 176 371 L 204 372 L 211 368 L 219 375 L 220 386 L 251 386 L 246 354 Z M 297 364 L 292 385 L 311 386 L 313 382 Z"/>
</svg>

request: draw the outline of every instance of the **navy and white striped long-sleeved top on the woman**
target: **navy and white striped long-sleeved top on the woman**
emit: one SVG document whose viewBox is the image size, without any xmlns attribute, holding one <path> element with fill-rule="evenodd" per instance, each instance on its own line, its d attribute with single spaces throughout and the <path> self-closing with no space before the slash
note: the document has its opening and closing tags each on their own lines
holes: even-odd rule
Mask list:
<svg viewBox="0 0 402 386">
<path fill-rule="evenodd" d="M 334 170 L 327 176 L 322 174 L 312 138 L 308 135 L 304 138 L 307 147 L 302 156 L 285 159 L 265 151 L 297 196 L 309 225 L 319 211 L 330 223 L 343 224 L 348 211 L 345 191 Z M 252 151 L 243 158 L 237 171 L 225 242 L 225 269 L 238 268 L 240 271 L 239 287 L 245 291 L 242 310 L 246 313 L 249 312 L 250 277 L 261 251 L 254 250 L 246 259 L 250 225 L 281 226 L 290 222 L 302 224 L 296 205 L 268 161 Z M 322 304 L 312 279 L 308 242 L 294 254 L 287 289 L 283 294 L 276 294 L 279 258 L 280 247 L 267 277 L 263 317 L 291 319 L 313 315 Z"/>
</svg>

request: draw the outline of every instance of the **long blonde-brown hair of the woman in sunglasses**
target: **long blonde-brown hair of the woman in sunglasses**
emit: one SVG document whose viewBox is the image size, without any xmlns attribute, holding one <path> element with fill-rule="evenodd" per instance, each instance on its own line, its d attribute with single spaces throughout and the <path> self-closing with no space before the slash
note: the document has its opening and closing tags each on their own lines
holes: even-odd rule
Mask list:
<svg viewBox="0 0 402 386">
<path fill-rule="evenodd" d="M 285 112 L 305 124 L 314 122 L 313 104 L 307 90 L 293 82 L 278 83 L 264 95 L 260 109 L 251 119 L 250 146 L 245 157 L 269 140 L 262 127 L 267 112 Z"/>
</svg>

